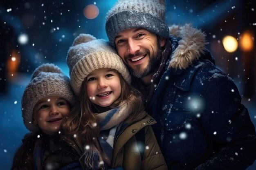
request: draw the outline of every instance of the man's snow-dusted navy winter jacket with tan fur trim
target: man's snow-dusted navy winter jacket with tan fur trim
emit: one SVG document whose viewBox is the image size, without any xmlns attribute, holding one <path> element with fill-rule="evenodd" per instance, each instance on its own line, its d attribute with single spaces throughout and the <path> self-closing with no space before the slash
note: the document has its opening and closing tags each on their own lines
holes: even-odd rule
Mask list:
<svg viewBox="0 0 256 170">
<path fill-rule="evenodd" d="M 202 32 L 176 30 L 146 108 L 168 168 L 246 169 L 256 159 L 256 138 L 238 88 L 204 49 Z"/>
</svg>

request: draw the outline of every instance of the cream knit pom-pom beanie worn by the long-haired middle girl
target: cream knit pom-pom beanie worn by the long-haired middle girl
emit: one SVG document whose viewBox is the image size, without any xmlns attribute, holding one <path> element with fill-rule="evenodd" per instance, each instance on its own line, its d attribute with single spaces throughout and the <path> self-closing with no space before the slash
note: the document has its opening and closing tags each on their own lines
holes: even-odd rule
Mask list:
<svg viewBox="0 0 256 170">
<path fill-rule="evenodd" d="M 79 95 L 83 80 L 99 68 L 117 70 L 130 84 L 131 76 L 121 57 L 106 40 L 96 39 L 90 34 L 80 34 L 67 52 L 67 65 L 70 68 L 71 86 Z"/>
</svg>

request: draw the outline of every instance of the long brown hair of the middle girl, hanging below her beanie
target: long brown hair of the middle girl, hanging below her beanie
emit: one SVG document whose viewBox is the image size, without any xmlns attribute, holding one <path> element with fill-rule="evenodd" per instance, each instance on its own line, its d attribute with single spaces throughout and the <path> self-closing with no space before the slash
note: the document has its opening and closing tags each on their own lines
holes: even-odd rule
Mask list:
<svg viewBox="0 0 256 170">
<path fill-rule="evenodd" d="M 129 86 L 120 73 L 117 72 L 117 74 L 121 83 L 121 95 L 109 108 L 115 108 L 122 101 L 126 101 L 131 109 L 131 114 L 125 121 L 130 123 L 144 110 L 144 102 L 139 91 Z M 82 82 L 78 101 L 71 110 L 70 115 L 63 119 L 61 127 L 64 135 L 69 137 L 73 137 L 74 134 L 81 135 L 83 142 L 91 143 L 95 138 L 97 139 L 100 129 L 97 118 L 92 111 L 94 104 L 88 98 L 86 87 L 87 77 Z"/>
</svg>

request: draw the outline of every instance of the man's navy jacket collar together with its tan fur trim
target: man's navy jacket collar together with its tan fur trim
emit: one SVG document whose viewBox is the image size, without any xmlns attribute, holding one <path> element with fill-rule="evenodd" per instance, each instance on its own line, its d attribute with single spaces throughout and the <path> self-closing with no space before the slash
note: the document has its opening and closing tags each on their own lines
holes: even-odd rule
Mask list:
<svg viewBox="0 0 256 170">
<path fill-rule="evenodd" d="M 205 40 L 206 35 L 202 31 L 193 28 L 191 24 L 172 25 L 169 29 L 173 51 L 166 64 L 168 65 L 167 71 L 163 77 L 174 75 L 174 86 L 183 91 L 189 91 L 193 75 L 203 64 L 198 60 L 205 58 L 213 64 L 215 61 L 210 52 L 204 48 L 207 42 Z"/>
</svg>

